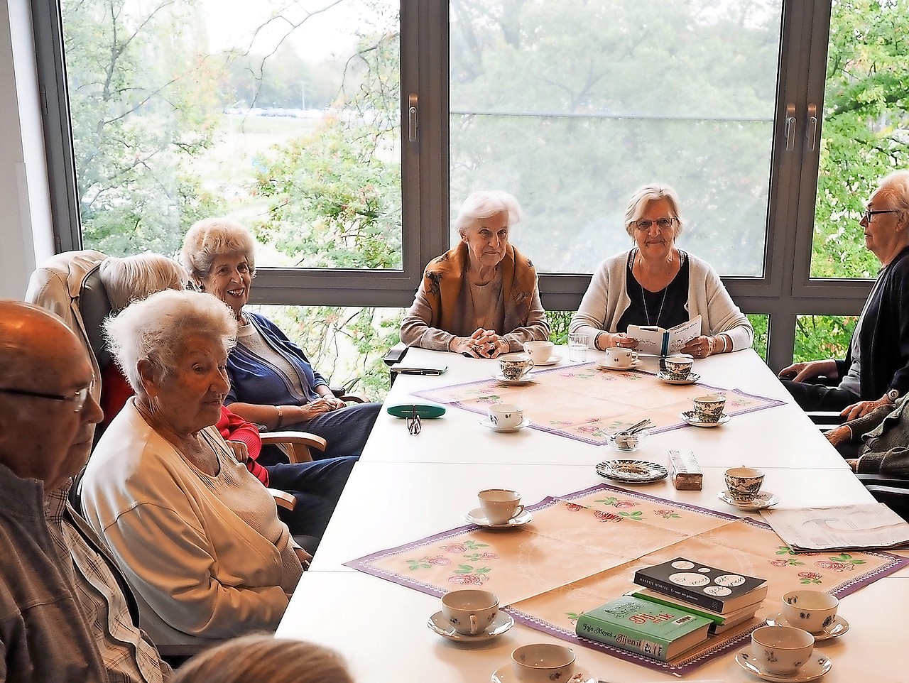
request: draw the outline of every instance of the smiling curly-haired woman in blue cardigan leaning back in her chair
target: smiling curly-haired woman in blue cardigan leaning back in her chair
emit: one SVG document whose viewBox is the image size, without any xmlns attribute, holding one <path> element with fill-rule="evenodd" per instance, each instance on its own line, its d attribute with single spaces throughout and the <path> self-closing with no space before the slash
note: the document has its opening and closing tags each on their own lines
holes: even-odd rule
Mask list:
<svg viewBox="0 0 909 683">
<path fill-rule="evenodd" d="M 274 431 L 310 431 L 328 441 L 319 458 L 359 455 L 379 403 L 347 405 L 335 398 L 303 350 L 265 316 L 244 312 L 255 277 L 255 241 L 240 223 L 209 218 L 186 233 L 180 254 L 202 291 L 234 312 L 237 344 L 227 358 L 231 411 Z"/>
</svg>

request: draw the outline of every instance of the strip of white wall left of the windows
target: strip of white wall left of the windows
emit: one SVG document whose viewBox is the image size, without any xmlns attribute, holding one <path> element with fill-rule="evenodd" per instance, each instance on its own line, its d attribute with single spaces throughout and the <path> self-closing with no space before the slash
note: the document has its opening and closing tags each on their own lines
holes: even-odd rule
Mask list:
<svg viewBox="0 0 909 683">
<path fill-rule="evenodd" d="M 0 5 L 0 297 L 21 299 L 54 252 L 28 0 Z"/>
</svg>

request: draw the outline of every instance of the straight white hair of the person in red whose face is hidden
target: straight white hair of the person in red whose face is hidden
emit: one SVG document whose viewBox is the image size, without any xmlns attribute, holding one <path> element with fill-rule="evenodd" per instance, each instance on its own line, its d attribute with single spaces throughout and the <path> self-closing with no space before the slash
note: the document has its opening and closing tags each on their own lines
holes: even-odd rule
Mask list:
<svg viewBox="0 0 909 683">
<path fill-rule="evenodd" d="M 98 268 L 114 313 L 162 290 L 182 290 L 189 279 L 183 266 L 160 253 L 108 256 Z"/>
</svg>

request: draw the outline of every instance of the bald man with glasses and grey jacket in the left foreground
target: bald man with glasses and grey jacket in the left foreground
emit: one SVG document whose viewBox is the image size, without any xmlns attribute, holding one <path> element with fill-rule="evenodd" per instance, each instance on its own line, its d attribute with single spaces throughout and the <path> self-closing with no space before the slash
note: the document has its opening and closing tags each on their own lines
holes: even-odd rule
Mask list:
<svg viewBox="0 0 909 683">
<path fill-rule="evenodd" d="M 67 503 L 103 417 L 85 348 L 54 316 L 0 300 L 0 681 L 159 683 L 135 600 Z"/>
</svg>

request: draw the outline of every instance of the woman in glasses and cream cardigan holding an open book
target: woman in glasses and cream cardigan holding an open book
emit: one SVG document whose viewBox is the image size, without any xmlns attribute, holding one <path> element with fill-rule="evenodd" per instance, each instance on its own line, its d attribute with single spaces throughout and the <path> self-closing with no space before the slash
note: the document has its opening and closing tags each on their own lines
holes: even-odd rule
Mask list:
<svg viewBox="0 0 909 683">
<path fill-rule="evenodd" d="M 668 185 L 637 190 L 625 209 L 625 231 L 634 248 L 600 264 L 574 313 L 571 332 L 588 335 L 604 350 L 634 347 L 628 325 L 674 327 L 697 315 L 705 333 L 682 351 L 703 358 L 751 347 L 754 330 L 710 265 L 675 246 L 684 223 Z"/>
</svg>

